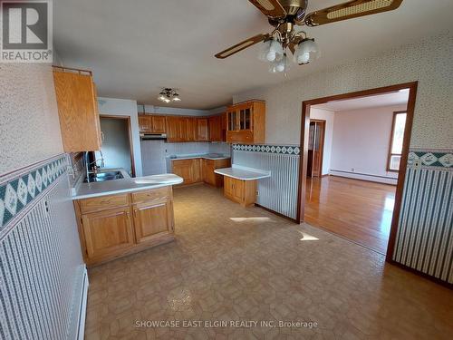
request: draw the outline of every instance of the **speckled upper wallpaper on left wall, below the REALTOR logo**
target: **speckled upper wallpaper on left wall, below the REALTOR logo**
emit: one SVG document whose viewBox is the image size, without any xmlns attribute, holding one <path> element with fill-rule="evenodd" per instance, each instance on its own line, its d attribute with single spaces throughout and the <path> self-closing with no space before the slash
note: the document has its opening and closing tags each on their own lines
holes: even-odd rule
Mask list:
<svg viewBox="0 0 453 340">
<path fill-rule="evenodd" d="M 62 153 L 51 66 L 3 63 L 0 89 L 0 174 Z"/>
</svg>

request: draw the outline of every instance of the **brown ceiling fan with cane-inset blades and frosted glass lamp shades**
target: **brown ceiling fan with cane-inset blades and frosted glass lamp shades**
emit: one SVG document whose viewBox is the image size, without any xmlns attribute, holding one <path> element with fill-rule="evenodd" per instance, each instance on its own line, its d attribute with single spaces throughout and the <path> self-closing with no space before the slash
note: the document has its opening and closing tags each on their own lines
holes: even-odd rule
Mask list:
<svg viewBox="0 0 453 340">
<path fill-rule="evenodd" d="M 296 32 L 294 26 L 319 26 L 348 20 L 364 15 L 374 15 L 398 8 L 402 0 L 352 0 L 333 5 L 306 15 L 308 0 L 249 0 L 274 26 L 270 34 L 257 34 L 239 44 L 217 53 L 216 57 L 226 57 L 238 53 L 254 44 L 264 42 L 259 58 L 271 62 L 270 72 L 286 72 L 288 68 L 286 49 L 294 55 L 294 63 L 310 63 L 319 57 L 319 50 L 313 38 L 304 31 Z"/>
</svg>

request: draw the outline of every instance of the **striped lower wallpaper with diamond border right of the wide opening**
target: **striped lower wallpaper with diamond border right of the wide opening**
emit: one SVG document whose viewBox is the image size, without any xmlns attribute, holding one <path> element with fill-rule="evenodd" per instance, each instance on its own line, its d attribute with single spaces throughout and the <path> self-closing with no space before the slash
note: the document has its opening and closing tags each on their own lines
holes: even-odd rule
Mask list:
<svg viewBox="0 0 453 340">
<path fill-rule="evenodd" d="M 453 283 L 453 152 L 410 151 L 409 159 L 393 260 Z"/>
</svg>

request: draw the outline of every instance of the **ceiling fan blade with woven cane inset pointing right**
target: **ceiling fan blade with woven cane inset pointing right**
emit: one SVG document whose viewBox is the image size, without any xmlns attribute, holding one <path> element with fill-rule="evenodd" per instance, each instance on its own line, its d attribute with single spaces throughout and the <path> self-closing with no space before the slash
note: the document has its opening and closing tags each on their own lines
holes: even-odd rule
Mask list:
<svg viewBox="0 0 453 340">
<path fill-rule="evenodd" d="M 310 13 L 305 17 L 305 24 L 318 26 L 358 16 L 374 15 L 397 9 L 401 3 L 402 0 L 352 0 Z"/>
</svg>

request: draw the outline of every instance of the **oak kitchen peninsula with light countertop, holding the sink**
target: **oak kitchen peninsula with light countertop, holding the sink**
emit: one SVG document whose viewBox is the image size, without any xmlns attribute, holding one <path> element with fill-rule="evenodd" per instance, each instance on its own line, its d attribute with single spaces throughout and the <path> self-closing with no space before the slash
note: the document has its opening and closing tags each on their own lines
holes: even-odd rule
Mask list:
<svg viewBox="0 0 453 340">
<path fill-rule="evenodd" d="M 174 174 L 79 183 L 72 196 L 82 255 L 98 265 L 174 239 Z"/>
</svg>

